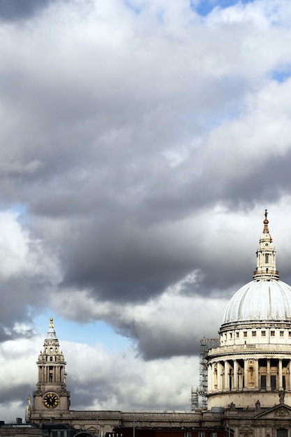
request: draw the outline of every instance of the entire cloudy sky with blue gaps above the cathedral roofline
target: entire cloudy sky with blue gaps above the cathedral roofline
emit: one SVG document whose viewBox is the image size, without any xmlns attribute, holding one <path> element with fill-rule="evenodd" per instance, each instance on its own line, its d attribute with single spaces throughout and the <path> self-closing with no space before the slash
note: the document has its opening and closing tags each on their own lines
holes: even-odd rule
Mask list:
<svg viewBox="0 0 291 437">
<path fill-rule="evenodd" d="M 264 209 L 291 283 L 289 0 L 0 0 L 0 418 L 190 409 Z"/>
</svg>

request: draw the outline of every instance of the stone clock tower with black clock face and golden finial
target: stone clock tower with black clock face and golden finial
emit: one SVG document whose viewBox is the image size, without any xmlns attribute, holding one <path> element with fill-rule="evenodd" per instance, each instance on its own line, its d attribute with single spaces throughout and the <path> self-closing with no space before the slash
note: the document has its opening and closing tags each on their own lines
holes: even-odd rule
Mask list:
<svg viewBox="0 0 291 437">
<path fill-rule="evenodd" d="M 54 330 L 53 319 L 43 344 L 43 352 L 38 355 L 38 383 L 33 392 L 33 403 L 29 396 L 27 422 L 43 423 L 64 420 L 70 417 L 70 392 L 66 390 L 66 362 L 63 352 L 59 350 L 59 340 Z"/>
</svg>

